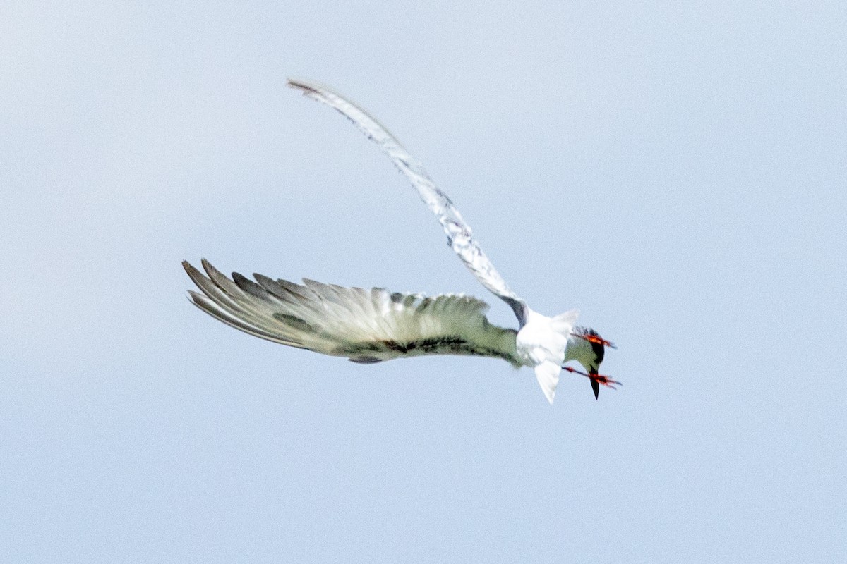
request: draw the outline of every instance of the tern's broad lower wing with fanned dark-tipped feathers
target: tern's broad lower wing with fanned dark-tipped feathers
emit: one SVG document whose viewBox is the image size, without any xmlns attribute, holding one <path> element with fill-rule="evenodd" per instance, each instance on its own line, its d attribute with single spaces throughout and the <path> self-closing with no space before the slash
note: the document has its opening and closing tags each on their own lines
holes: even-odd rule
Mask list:
<svg viewBox="0 0 847 564">
<path fill-rule="evenodd" d="M 372 363 L 422 354 L 470 354 L 520 362 L 512 329 L 491 325 L 488 304 L 461 294 L 427 298 L 304 280 L 305 285 L 234 272 L 225 277 L 207 260 L 204 275 L 182 266 L 202 293 L 197 307 L 246 333 L 316 353 Z"/>
</svg>

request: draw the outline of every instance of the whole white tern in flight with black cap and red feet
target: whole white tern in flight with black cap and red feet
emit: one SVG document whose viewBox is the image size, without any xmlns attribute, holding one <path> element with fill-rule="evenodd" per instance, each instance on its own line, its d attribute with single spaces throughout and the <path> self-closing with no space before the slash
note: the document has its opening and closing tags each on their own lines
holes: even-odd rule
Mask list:
<svg viewBox="0 0 847 564">
<path fill-rule="evenodd" d="M 255 282 L 233 272 L 228 278 L 202 260 L 205 274 L 187 261 L 182 265 L 202 293 L 191 301 L 215 319 L 250 335 L 316 353 L 370 364 L 426 354 L 460 354 L 504 359 L 534 369 L 549 402 L 556 396 L 562 370 L 586 376 L 595 398 L 600 386 L 620 382 L 599 374 L 606 347 L 615 348 L 596 331 L 576 326 L 572 309 L 547 317 L 529 308 L 512 292 L 484 254 L 471 228 L 450 198 L 394 135 L 362 107 L 318 83 L 289 79 L 288 85 L 348 118 L 390 157 L 418 191 L 444 232 L 447 243 L 482 285 L 505 301 L 518 317 L 518 329 L 495 326 L 485 316 L 489 305 L 461 293 L 427 297 L 341 287 L 307 278 L 302 284 L 254 274 Z M 565 364 L 576 361 L 584 371 Z"/>
</svg>

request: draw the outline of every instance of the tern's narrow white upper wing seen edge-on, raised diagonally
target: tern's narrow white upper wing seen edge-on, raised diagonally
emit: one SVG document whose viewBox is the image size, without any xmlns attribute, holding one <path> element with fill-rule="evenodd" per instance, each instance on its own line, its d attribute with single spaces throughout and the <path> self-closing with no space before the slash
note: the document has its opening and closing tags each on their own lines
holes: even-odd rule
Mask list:
<svg viewBox="0 0 847 564">
<path fill-rule="evenodd" d="M 349 118 L 368 138 L 379 145 L 379 148 L 390 157 L 391 161 L 400 169 L 400 172 L 412 181 L 412 186 L 418 190 L 421 200 L 424 200 L 424 203 L 438 218 L 441 227 L 444 227 L 447 242 L 459 255 L 465 266 L 473 272 L 473 276 L 477 277 L 477 280 L 484 287 L 512 307 L 515 315 L 518 316 L 518 321 L 523 326 L 528 315 L 527 304 L 507 286 L 495 270 L 494 265 L 491 264 L 491 261 L 479 247 L 477 240 L 473 238 L 470 226 L 462 219 L 462 215 L 450 201 L 450 198 L 435 186 L 424 166 L 410 155 L 409 151 L 406 151 L 400 141 L 368 112 L 326 86 L 296 79 L 289 79 L 288 85 L 302 90 L 305 96 L 322 101 L 329 107 L 334 107 L 346 118 Z"/>
</svg>

